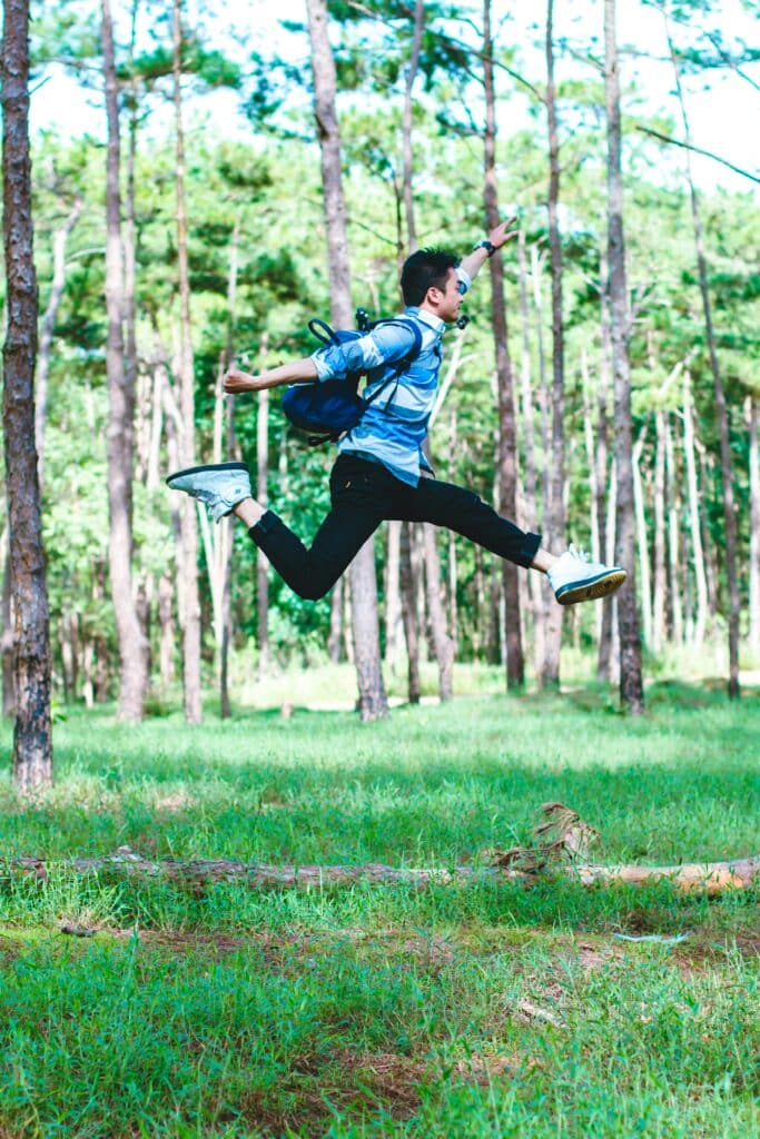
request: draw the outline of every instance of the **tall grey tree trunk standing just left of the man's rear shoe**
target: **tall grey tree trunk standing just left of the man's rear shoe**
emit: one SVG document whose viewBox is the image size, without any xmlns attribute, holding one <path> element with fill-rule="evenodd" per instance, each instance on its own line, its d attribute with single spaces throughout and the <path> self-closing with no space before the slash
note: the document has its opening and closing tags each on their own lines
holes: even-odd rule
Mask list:
<svg viewBox="0 0 760 1139">
<path fill-rule="evenodd" d="M 142 719 L 148 687 L 148 645 L 140 626 L 132 583 L 132 437 L 134 374 L 124 368 L 124 306 L 121 236 L 119 92 L 109 0 L 103 0 L 103 69 L 108 147 L 106 167 L 106 310 L 108 343 L 108 566 L 119 638 L 119 718 Z"/>
</svg>

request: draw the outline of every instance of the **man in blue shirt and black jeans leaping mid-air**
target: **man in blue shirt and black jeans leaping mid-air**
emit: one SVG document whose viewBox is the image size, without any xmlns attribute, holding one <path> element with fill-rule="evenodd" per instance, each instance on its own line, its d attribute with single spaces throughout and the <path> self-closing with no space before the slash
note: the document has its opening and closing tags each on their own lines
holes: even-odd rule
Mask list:
<svg viewBox="0 0 760 1139">
<path fill-rule="evenodd" d="M 310 549 L 256 502 L 242 462 L 178 470 L 166 480 L 169 486 L 204 502 L 215 522 L 235 514 L 277 573 L 303 598 L 324 597 L 367 539 L 390 518 L 447 526 L 508 562 L 546 573 L 561 605 L 614 592 L 627 576 L 620 566 L 589 562 L 572 546 L 558 557 L 549 554 L 541 548 L 540 534 L 520 530 L 472 491 L 433 477 L 423 454 L 446 326 L 457 320 L 461 298 L 488 257 L 516 236 L 514 222 L 512 218 L 497 226 L 461 263 L 441 249 L 412 253 L 401 272 L 403 321 L 379 325 L 346 344 L 328 345 L 258 376 L 236 368 L 227 372 L 224 391 L 232 394 L 367 372 L 365 395 L 371 402 L 337 444 L 330 474 L 332 508 Z M 418 323 L 422 344 L 399 374 L 394 362 L 409 357 L 416 344 L 409 321 Z M 387 384 L 390 376 L 393 383 Z"/>
</svg>

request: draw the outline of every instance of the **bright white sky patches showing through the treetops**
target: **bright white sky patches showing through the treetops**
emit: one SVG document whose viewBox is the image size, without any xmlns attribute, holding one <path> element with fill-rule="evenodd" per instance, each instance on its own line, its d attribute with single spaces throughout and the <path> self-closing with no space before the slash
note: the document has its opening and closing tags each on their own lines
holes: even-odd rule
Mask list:
<svg viewBox="0 0 760 1139">
<path fill-rule="evenodd" d="M 85 8 L 87 5 L 82 7 Z M 246 47 L 254 47 L 264 52 L 276 47 L 292 60 L 302 58 L 304 66 L 307 65 L 305 36 L 286 32 L 279 24 L 283 19 L 304 22 L 303 0 L 279 0 L 276 7 L 268 0 L 229 0 L 223 5 L 220 0 L 212 0 L 211 3 L 205 2 L 203 6 L 196 0 L 188 0 L 190 23 L 194 23 L 199 15 L 201 7 L 203 23 L 216 46 L 224 47 L 234 55 L 239 55 L 242 51 L 245 55 Z M 477 24 L 479 6 L 463 5 L 461 10 L 469 11 Z M 538 84 L 544 76 L 542 18 L 544 11 L 536 7 L 534 0 L 514 0 L 508 5 L 505 0 L 497 0 L 495 3 L 493 23 L 497 43 L 516 48 L 515 67 L 523 69 L 525 75 Z M 561 80 L 570 77 L 578 80 L 594 74 L 594 65 L 587 59 L 589 55 L 597 60 L 602 58 L 602 5 L 597 0 L 569 0 L 557 6 L 555 27 L 558 44 L 557 69 Z M 122 14 L 122 33 L 125 35 L 124 14 Z M 742 0 L 714 0 L 711 5 L 711 16 L 705 19 L 704 27 L 719 30 L 726 47 L 742 41 L 753 44 L 757 41 L 757 18 L 752 16 L 750 6 Z M 473 28 L 468 27 L 466 22 L 460 25 L 458 34 L 465 40 L 474 40 Z M 629 113 L 640 115 L 663 113 L 677 122 L 675 100 L 671 96 L 672 71 L 665 59 L 667 48 L 661 16 L 640 0 L 621 5 L 619 34 L 621 44 L 630 49 L 623 52 L 622 57 L 627 109 Z M 696 46 L 700 42 L 698 34 L 681 26 L 677 27 L 677 34 L 680 46 Z M 238 40 L 237 44 L 232 42 L 234 39 Z M 701 46 L 705 46 L 704 40 Z M 755 83 L 760 83 L 760 64 L 747 65 L 744 69 Z M 757 121 L 760 113 L 760 91 L 728 68 L 687 77 L 685 85 L 695 145 L 720 155 L 736 166 L 758 173 L 760 148 L 757 142 L 757 131 L 747 128 L 750 123 Z M 637 89 L 636 96 L 634 87 Z M 297 98 L 305 107 L 308 101 L 305 92 L 299 92 Z M 247 130 L 237 113 L 235 95 L 218 92 L 213 98 L 206 95 L 204 108 L 230 132 Z M 559 109 L 562 112 L 562 107 Z M 510 103 L 513 126 L 522 125 L 520 120 L 524 112 L 523 100 Z M 520 118 L 516 117 L 517 114 Z M 95 92 L 83 92 L 73 76 L 64 75 L 56 68 L 50 72 L 48 81 L 33 97 L 32 125 L 34 130 L 47 128 L 71 134 L 87 130 L 97 136 L 105 130 L 105 116 Z M 680 137 L 678 130 L 676 137 Z M 653 141 L 652 146 L 656 147 L 657 144 Z M 676 153 L 672 157 L 676 159 Z M 694 173 L 705 188 L 720 185 L 732 190 L 746 191 L 752 186 L 750 181 L 733 174 L 725 166 L 700 156 L 695 156 Z"/>
</svg>

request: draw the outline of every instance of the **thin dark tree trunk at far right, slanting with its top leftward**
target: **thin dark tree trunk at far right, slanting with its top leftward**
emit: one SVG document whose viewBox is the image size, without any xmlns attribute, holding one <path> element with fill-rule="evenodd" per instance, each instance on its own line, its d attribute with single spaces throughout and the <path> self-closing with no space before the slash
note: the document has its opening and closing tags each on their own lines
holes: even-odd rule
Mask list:
<svg viewBox="0 0 760 1139">
<path fill-rule="evenodd" d="M 667 13 L 663 9 L 665 32 L 668 34 L 668 48 L 673 65 L 676 77 L 676 92 L 680 105 L 681 121 L 684 123 L 684 136 L 687 147 L 692 145 L 688 117 L 686 115 L 686 104 L 680 81 L 680 69 L 676 58 L 676 50 L 670 35 L 670 24 Z M 712 305 L 710 302 L 710 289 L 708 286 L 708 259 L 704 252 L 704 231 L 702 229 L 702 218 L 700 213 L 700 198 L 692 175 L 692 155 L 688 149 L 686 155 L 686 177 L 688 180 L 689 197 L 692 200 L 692 220 L 694 222 L 694 241 L 696 245 L 696 263 L 700 274 L 700 292 L 702 294 L 702 308 L 704 310 L 704 328 L 708 337 L 708 349 L 710 352 L 710 368 L 716 393 L 716 410 L 718 412 L 718 427 L 720 431 L 720 474 L 724 489 L 724 525 L 726 528 L 726 574 L 728 577 L 728 695 L 733 699 L 739 695 L 738 682 L 738 622 L 739 622 L 739 590 L 737 570 L 737 536 L 736 536 L 736 506 L 734 502 L 734 478 L 732 474 L 732 451 L 730 451 L 730 425 L 728 419 L 728 407 L 726 404 L 726 393 L 724 391 L 718 352 L 716 349 L 716 336 L 712 326 Z"/>
</svg>

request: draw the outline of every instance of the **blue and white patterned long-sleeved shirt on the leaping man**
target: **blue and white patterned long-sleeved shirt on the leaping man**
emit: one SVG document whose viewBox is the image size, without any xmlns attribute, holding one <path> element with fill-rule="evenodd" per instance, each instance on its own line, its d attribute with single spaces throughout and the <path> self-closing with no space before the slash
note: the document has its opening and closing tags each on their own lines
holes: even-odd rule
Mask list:
<svg viewBox="0 0 760 1139">
<path fill-rule="evenodd" d="M 461 270 L 458 274 L 460 290 L 466 293 L 472 281 Z M 423 337 L 419 354 L 398 377 L 398 385 L 389 384 L 379 392 L 361 421 L 341 439 L 338 451 L 382 462 L 401 482 L 416 486 L 420 468 L 431 469 L 422 446 L 435 403 L 446 325 L 433 313 L 415 306 L 406 309 L 403 316 L 419 325 Z M 393 372 L 393 364 L 414 345 L 414 335 L 403 325 L 379 325 L 356 341 L 319 349 L 312 360 L 320 380 L 342 379 L 349 372 L 366 371 L 367 386 L 362 394 L 370 398 Z"/>
</svg>

